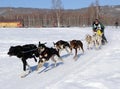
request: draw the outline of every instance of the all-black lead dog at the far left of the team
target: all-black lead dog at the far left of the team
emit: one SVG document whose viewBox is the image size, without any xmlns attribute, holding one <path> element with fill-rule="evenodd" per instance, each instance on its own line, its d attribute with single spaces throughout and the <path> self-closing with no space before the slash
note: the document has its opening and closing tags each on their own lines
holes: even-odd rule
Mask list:
<svg viewBox="0 0 120 89">
<path fill-rule="evenodd" d="M 34 58 L 35 62 L 37 62 L 36 57 L 39 57 L 37 46 L 34 44 L 27 44 L 23 46 L 20 46 L 20 45 L 11 46 L 9 49 L 8 55 L 21 58 L 24 71 L 26 71 L 26 66 L 28 66 L 30 69 L 30 66 L 26 61 L 28 58 Z"/>
</svg>

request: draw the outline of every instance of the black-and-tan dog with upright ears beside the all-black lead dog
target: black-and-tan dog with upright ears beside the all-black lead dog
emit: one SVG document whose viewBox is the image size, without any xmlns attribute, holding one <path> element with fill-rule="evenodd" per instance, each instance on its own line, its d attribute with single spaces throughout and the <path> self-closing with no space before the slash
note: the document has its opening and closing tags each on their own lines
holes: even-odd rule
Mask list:
<svg viewBox="0 0 120 89">
<path fill-rule="evenodd" d="M 43 66 L 43 64 L 48 61 L 50 58 L 52 61 L 55 62 L 56 66 L 56 60 L 54 59 L 55 56 L 57 56 L 61 61 L 63 61 L 59 55 L 59 52 L 54 48 L 46 47 L 45 44 L 41 44 L 39 42 L 38 45 L 38 51 L 39 51 L 39 62 L 37 70 Z"/>
</svg>

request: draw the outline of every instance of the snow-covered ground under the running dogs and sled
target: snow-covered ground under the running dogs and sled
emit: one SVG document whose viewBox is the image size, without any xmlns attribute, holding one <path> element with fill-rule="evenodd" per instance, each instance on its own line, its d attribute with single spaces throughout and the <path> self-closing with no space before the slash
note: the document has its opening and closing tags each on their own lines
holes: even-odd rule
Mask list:
<svg viewBox="0 0 120 89">
<path fill-rule="evenodd" d="M 0 89 L 120 89 L 120 29 L 106 27 L 108 44 L 100 50 L 87 50 L 85 35 L 92 34 L 88 28 L 0 28 Z M 28 59 L 32 73 L 21 78 L 22 62 L 9 57 L 10 46 L 47 42 L 53 47 L 58 40 L 82 40 L 85 53 L 79 58 L 62 51 L 64 63 L 48 61 L 35 71 L 37 63 Z"/>
</svg>

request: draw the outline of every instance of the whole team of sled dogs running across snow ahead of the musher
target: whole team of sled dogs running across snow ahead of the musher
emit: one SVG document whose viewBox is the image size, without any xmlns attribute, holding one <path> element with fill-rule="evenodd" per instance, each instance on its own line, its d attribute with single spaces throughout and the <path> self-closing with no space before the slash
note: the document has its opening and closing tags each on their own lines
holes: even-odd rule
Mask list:
<svg viewBox="0 0 120 89">
<path fill-rule="evenodd" d="M 87 42 L 87 48 L 92 49 L 92 47 L 99 48 L 101 46 L 102 37 L 100 35 L 94 34 L 93 36 L 87 34 L 85 37 Z M 36 57 L 39 58 L 38 65 L 36 70 L 39 70 L 46 61 L 51 59 L 56 66 L 57 59 L 63 62 L 63 59 L 60 56 L 62 50 L 66 50 L 67 53 L 72 54 L 72 50 L 75 50 L 74 59 L 77 60 L 78 49 L 83 49 L 83 43 L 81 40 L 71 40 L 70 42 L 59 40 L 57 42 L 53 42 L 54 47 L 47 47 L 47 43 L 39 42 L 38 46 L 35 44 L 26 44 L 26 45 L 17 45 L 11 46 L 8 52 L 9 56 L 16 56 L 21 59 L 23 63 L 23 71 L 24 74 L 21 77 L 25 77 L 26 75 L 26 67 L 29 69 L 29 73 L 32 71 L 29 64 L 27 63 L 28 58 L 34 58 L 35 62 L 37 62 Z M 57 56 L 57 59 L 55 59 Z"/>
</svg>

